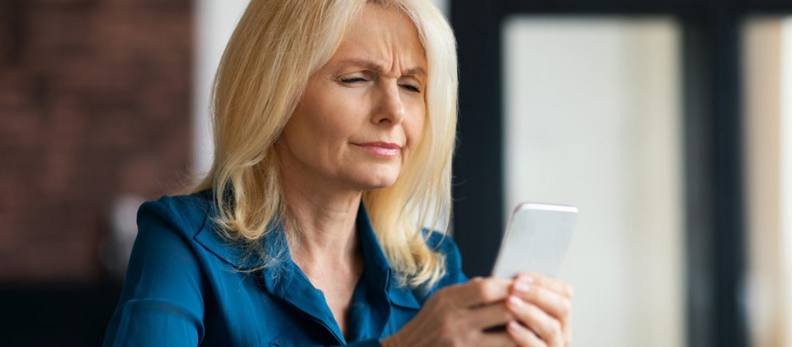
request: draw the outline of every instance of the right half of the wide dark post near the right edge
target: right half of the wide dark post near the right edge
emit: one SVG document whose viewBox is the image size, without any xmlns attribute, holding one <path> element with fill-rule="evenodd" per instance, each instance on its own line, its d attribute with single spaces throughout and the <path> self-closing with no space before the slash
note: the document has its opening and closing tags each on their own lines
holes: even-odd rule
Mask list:
<svg viewBox="0 0 792 347">
<path fill-rule="evenodd" d="M 741 88 L 741 26 L 737 15 L 719 16 L 712 30 L 718 56 L 714 70 L 713 254 L 714 345 L 747 346 L 743 306 L 744 192 Z"/>
</svg>

